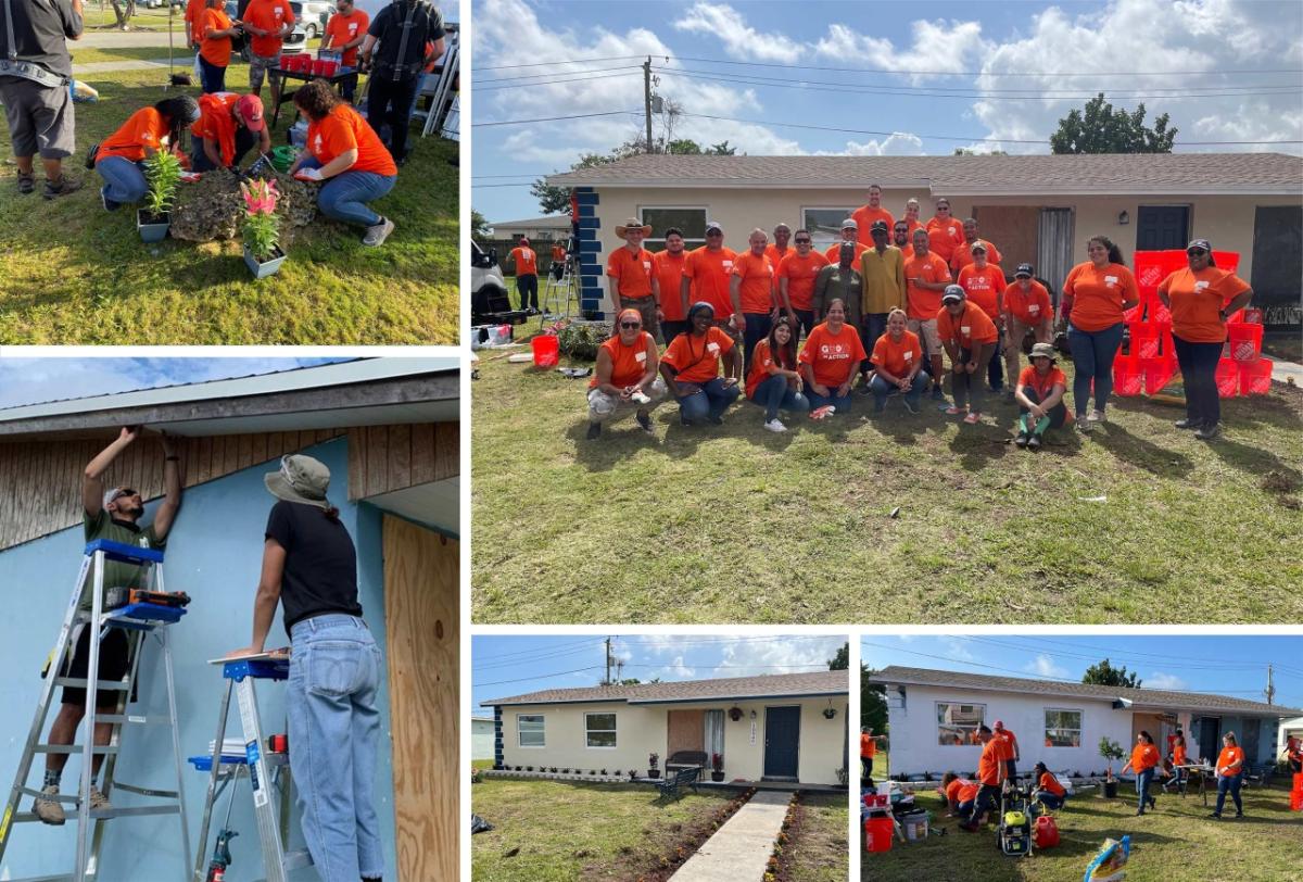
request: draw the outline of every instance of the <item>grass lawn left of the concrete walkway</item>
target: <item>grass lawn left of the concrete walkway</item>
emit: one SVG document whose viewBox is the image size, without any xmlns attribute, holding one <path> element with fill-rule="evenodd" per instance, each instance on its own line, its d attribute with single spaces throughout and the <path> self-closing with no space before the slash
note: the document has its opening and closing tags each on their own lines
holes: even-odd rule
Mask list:
<svg viewBox="0 0 1303 882">
<path fill-rule="evenodd" d="M 472 878 L 636 878 L 727 801 L 706 791 L 663 801 L 649 786 L 487 779 L 472 786 L 470 804 L 495 830 L 470 839 Z"/>
</svg>

